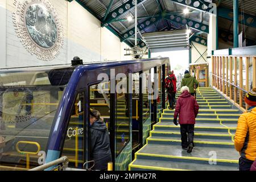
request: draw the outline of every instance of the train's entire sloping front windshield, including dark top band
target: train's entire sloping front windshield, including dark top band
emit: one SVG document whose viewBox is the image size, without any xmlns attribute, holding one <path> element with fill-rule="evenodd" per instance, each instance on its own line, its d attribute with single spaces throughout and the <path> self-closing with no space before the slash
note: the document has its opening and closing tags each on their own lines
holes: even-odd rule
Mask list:
<svg viewBox="0 0 256 182">
<path fill-rule="evenodd" d="M 0 70 L 0 170 L 44 163 L 57 106 L 73 68 Z"/>
</svg>

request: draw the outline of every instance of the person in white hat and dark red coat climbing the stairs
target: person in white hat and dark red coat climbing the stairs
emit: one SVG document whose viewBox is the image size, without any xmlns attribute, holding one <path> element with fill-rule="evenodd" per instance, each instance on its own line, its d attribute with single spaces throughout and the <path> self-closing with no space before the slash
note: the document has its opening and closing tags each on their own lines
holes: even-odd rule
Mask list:
<svg viewBox="0 0 256 182">
<path fill-rule="evenodd" d="M 194 126 L 196 123 L 196 116 L 199 111 L 199 105 L 195 97 L 189 93 L 187 86 L 181 87 L 181 95 L 177 100 L 174 112 L 174 124 L 177 126 L 177 117 L 179 115 L 181 146 L 186 149 L 188 153 L 192 152 L 194 140 Z"/>
</svg>

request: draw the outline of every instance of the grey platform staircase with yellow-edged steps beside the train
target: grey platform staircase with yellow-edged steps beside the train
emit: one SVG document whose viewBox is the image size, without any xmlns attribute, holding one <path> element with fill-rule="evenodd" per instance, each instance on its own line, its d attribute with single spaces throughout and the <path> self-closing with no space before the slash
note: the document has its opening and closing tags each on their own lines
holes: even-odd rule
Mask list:
<svg viewBox="0 0 256 182">
<path fill-rule="evenodd" d="M 192 153 L 181 148 L 180 126 L 173 123 L 174 110 L 164 109 L 129 170 L 238 170 L 240 155 L 233 141 L 242 112 L 233 109 L 232 103 L 213 88 L 197 89 L 197 102 Z"/>
</svg>

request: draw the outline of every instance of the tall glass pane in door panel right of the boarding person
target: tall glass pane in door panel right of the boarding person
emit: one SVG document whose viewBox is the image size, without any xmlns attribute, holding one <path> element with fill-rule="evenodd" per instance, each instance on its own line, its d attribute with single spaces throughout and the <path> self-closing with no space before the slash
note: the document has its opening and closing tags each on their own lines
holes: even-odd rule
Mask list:
<svg viewBox="0 0 256 182">
<path fill-rule="evenodd" d="M 129 94 L 127 78 L 117 81 L 115 94 L 115 154 L 118 155 L 130 140 Z"/>
</svg>

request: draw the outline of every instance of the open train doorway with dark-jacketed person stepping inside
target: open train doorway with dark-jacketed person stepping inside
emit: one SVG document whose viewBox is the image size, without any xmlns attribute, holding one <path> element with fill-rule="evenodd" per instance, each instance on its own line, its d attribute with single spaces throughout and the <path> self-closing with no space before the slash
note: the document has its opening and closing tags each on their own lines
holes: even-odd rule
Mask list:
<svg viewBox="0 0 256 182">
<path fill-rule="evenodd" d="M 88 163 L 86 168 L 102 170 L 107 168 L 109 162 L 112 162 L 112 159 L 109 157 L 113 151 L 110 150 L 110 145 L 112 144 L 110 143 L 110 135 L 114 132 L 110 129 L 110 102 L 112 101 L 110 95 L 110 82 L 102 81 L 98 84 L 89 86 L 88 97 L 90 113 L 88 114 L 89 116 L 86 121 L 89 123 L 88 162 L 94 162 Z M 93 116 L 91 115 L 92 113 Z M 94 117 L 94 122 L 91 121 L 91 117 Z M 106 133 L 108 133 L 108 135 L 106 135 Z M 99 141 L 101 144 L 97 144 Z M 102 154 L 105 156 L 102 156 Z"/>
</svg>

